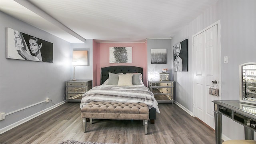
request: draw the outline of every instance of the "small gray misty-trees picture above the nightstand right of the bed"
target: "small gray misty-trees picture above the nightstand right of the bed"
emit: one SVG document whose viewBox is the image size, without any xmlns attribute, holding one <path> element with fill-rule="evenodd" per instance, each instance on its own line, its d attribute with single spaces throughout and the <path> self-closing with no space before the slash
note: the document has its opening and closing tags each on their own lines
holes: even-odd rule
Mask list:
<svg viewBox="0 0 256 144">
<path fill-rule="evenodd" d="M 166 64 L 166 62 L 167 62 L 166 48 L 151 49 L 151 64 Z"/>
</svg>

